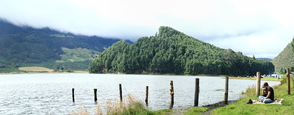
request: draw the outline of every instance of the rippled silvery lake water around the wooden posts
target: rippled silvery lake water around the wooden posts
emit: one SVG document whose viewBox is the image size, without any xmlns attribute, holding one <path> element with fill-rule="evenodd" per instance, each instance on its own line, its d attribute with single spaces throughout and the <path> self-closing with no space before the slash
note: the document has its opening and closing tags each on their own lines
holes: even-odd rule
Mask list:
<svg viewBox="0 0 294 115">
<path fill-rule="evenodd" d="M 224 99 L 223 77 L 199 77 L 198 106 L 214 104 Z M 174 86 L 173 108 L 194 105 L 197 76 L 176 75 L 113 75 L 113 74 L 21 74 L 0 75 L 0 114 L 68 114 L 81 104 L 92 112 L 97 99 L 102 105 L 107 99 L 119 100 L 119 84 L 123 98 L 131 93 L 145 102 L 148 86 L 148 106 L 152 110 L 169 109 L 170 81 Z M 274 79 L 274 78 L 273 78 Z M 268 82 L 270 86 L 280 82 Z M 229 79 L 228 100 L 240 98 L 241 92 L 256 84 L 256 80 Z M 74 88 L 75 102 L 72 102 Z"/>
</svg>

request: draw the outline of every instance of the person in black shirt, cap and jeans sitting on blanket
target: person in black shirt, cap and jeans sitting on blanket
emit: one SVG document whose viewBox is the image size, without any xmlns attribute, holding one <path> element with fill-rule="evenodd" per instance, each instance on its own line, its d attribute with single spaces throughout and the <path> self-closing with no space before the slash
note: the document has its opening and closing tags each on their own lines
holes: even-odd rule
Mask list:
<svg viewBox="0 0 294 115">
<path fill-rule="evenodd" d="M 260 102 L 262 103 L 272 103 L 274 102 L 275 93 L 273 87 L 270 87 L 267 82 L 263 84 L 262 96 L 259 96 Z"/>
</svg>

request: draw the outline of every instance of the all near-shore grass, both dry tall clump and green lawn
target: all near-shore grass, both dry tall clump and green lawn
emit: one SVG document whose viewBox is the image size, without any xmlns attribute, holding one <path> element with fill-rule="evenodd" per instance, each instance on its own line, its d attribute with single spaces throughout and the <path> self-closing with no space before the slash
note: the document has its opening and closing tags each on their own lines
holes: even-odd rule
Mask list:
<svg viewBox="0 0 294 115">
<path fill-rule="evenodd" d="M 286 77 L 281 80 L 281 84 L 278 86 L 271 86 L 275 91 L 275 98 L 284 99 L 282 105 L 279 104 L 246 104 L 249 99 L 259 100 L 255 97 L 255 85 L 248 86 L 246 92 L 242 92 L 244 97 L 238 99 L 234 104 L 229 104 L 225 107 L 213 109 L 211 115 L 290 115 L 294 113 L 294 89 L 293 80 L 290 77 L 290 95 L 287 94 L 287 80 Z M 269 84 L 270 85 L 270 84 Z M 221 89 L 220 89 L 221 90 Z M 108 100 L 106 103 L 106 111 L 101 109 L 101 106 L 97 104 L 95 114 L 97 115 L 173 115 L 173 114 L 185 114 L 185 115 L 201 115 L 202 112 L 209 110 L 207 107 L 191 107 L 185 109 L 187 111 L 180 111 L 179 109 L 162 109 L 158 111 L 151 111 L 146 107 L 143 101 L 137 100 L 135 97 L 129 96 L 127 99 L 123 99 L 124 102 L 118 102 L 114 99 L 114 102 Z M 183 109 L 184 110 L 184 109 Z M 69 114 L 88 115 L 91 114 L 87 109 L 81 108 L 76 111 L 71 111 Z"/>
</svg>

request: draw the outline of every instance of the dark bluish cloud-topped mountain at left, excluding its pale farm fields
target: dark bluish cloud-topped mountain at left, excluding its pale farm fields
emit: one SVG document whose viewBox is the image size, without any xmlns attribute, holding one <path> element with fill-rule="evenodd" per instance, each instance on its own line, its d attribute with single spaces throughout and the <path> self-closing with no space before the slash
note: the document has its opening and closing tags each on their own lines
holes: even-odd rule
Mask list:
<svg viewBox="0 0 294 115">
<path fill-rule="evenodd" d="M 62 48 L 86 48 L 95 52 L 103 52 L 119 40 L 121 39 L 61 33 L 49 28 L 18 27 L 0 19 L 0 69 L 28 65 L 56 69 L 51 65 L 56 66 L 54 61 L 61 60 L 60 55 L 66 54 Z M 133 43 L 130 40 L 126 41 Z M 75 68 L 87 70 L 89 62 L 85 61 L 85 64 L 82 65 L 86 66 Z M 62 65 L 73 64 L 66 62 Z"/>
</svg>

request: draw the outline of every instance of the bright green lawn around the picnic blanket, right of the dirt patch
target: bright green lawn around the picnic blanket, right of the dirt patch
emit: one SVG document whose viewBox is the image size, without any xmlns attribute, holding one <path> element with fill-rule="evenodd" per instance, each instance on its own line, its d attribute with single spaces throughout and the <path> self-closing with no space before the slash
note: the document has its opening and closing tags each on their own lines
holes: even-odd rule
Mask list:
<svg viewBox="0 0 294 115">
<path fill-rule="evenodd" d="M 238 102 L 234 104 L 229 104 L 228 106 L 214 109 L 211 113 L 212 115 L 235 115 L 235 114 L 256 114 L 256 115 L 275 115 L 282 114 L 288 115 L 293 114 L 293 104 L 294 104 L 294 89 L 293 80 L 290 77 L 290 95 L 287 94 L 287 83 L 285 83 L 286 77 L 282 79 L 284 84 L 279 86 L 271 86 L 274 88 L 275 98 L 284 99 L 282 105 L 279 104 L 246 104 L 249 99 L 259 100 L 255 97 L 255 86 L 248 87 L 247 91 L 244 92 L 246 95 L 240 98 Z M 269 84 L 270 85 L 270 84 Z"/>
</svg>

